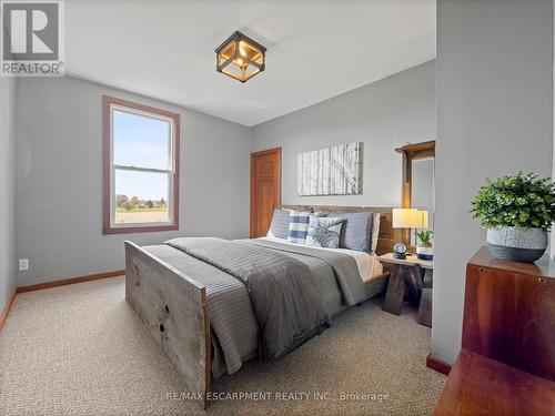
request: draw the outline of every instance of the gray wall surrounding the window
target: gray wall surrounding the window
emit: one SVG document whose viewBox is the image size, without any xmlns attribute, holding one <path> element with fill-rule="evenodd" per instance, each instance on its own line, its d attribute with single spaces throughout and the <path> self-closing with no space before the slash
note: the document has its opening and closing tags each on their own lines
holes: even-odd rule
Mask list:
<svg viewBox="0 0 555 416">
<path fill-rule="evenodd" d="M 181 114 L 179 232 L 102 234 L 105 93 Z M 123 268 L 128 239 L 248 236 L 249 128 L 72 78 L 21 80 L 17 98 L 19 285 Z"/>
</svg>

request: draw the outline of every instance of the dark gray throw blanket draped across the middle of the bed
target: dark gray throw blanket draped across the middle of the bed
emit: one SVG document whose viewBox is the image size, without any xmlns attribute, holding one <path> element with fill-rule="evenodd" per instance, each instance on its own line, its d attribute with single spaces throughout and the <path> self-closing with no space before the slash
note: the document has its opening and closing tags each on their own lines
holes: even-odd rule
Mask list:
<svg viewBox="0 0 555 416">
<path fill-rule="evenodd" d="M 266 359 L 282 357 L 331 324 L 311 270 L 302 262 L 222 239 L 175 239 L 167 244 L 246 286 L 260 332 L 259 354 Z"/>
</svg>

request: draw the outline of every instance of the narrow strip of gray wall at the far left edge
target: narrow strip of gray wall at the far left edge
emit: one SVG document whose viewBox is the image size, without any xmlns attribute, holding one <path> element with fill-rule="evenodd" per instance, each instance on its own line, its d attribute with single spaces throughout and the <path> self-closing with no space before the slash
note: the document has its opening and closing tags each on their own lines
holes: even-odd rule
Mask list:
<svg viewBox="0 0 555 416">
<path fill-rule="evenodd" d="M 0 312 L 16 287 L 14 100 L 16 80 L 0 78 Z"/>
</svg>

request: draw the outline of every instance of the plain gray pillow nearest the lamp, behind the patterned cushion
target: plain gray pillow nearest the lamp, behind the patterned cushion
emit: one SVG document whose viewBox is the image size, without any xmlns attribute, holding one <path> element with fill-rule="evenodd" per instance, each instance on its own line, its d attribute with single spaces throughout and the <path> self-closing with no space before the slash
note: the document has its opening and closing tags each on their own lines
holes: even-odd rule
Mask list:
<svg viewBox="0 0 555 416">
<path fill-rule="evenodd" d="M 345 220 L 341 229 L 341 248 L 367 253 L 372 251 L 372 212 L 331 213 L 327 216 L 341 216 Z"/>
</svg>

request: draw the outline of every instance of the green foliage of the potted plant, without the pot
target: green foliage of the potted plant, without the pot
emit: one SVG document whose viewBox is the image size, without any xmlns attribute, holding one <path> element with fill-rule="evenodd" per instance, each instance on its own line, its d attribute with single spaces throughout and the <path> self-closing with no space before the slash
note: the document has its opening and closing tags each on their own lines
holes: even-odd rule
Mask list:
<svg viewBox="0 0 555 416">
<path fill-rule="evenodd" d="M 537 174 L 487 180 L 472 202 L 471 214 L 485 229 L 519 227 L 548 231 L 555 221 L 555 183 Z"/>
</svg>

